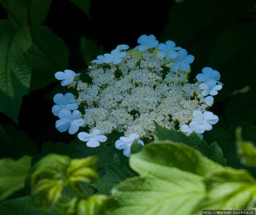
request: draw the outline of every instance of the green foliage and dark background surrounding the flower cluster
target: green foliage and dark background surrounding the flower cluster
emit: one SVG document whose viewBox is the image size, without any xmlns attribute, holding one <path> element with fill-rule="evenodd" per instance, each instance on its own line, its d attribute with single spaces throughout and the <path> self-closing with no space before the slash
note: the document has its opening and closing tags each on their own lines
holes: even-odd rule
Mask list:
<svg viewBox="0 0 256 215">
<path fill-rule="evenodd" d="M 0 0 L 0 214 L 196 215 L 256 208 L 255 2 L 154 4 Z M 211 107 L 219 118 L 212 130 L 201 140 L 155 122 L 159 141 L 144 139 L 142 146 L 135 139 L 130 158 L 115 148 L 123 133 L 113 131 L 96 148 L 59 133 L 53 96 L 74 89 L 63 89 L 54 74 L 72 69 L 90 84 L 87 68 L 97 55 L 118 44 L 135 47 L 144 34 L 193 54 L 184 76 L 190 83 L 203 66 L 220 72 L 224 85 Z"/>
</svg>

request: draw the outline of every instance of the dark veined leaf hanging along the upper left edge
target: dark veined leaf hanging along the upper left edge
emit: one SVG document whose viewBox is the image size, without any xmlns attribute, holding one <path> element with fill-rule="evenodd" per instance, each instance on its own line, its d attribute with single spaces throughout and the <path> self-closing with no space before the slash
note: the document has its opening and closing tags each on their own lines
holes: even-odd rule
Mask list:
<svg viewBox="0 0 256 215">
<path fill-rule="evenodd" d="M 31 72 L 27 49 L 31 46 L 29 27 L 11 29 L 7 20 L 0 21 L 0 111 L 18 124 L 22 97 L 28 93 Z"/>
</svg>

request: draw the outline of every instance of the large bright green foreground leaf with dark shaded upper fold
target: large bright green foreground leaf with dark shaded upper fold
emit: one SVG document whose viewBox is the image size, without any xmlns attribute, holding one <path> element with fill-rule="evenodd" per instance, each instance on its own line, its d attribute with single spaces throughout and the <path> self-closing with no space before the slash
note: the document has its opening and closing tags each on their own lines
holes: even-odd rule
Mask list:
<svg viewBox="0 0 256 215">
<path fill-rule="evenodd" d="M 128 178 L 112 189 L 120 206 L 109 214 L 189 214 L 206 192 L 202 175 L 212 163 L 184 144 L 147 144 L 130 157 L 131 168 L 141 177 Z"/>
</svg>

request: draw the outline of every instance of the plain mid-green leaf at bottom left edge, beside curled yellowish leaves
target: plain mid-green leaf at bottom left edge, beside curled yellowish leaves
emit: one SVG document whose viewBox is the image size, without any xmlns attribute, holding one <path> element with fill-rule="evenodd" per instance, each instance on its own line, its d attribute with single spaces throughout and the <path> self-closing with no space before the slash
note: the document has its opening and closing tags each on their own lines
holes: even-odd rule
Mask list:
<svg viewBox="0 0 256 215">
<path fill-rule="evenodd" d="M 18 160 L 0 159 L 0 201 L 24 187 L 30 163 L 30 156 L 23 156 Z"/>
</svg>

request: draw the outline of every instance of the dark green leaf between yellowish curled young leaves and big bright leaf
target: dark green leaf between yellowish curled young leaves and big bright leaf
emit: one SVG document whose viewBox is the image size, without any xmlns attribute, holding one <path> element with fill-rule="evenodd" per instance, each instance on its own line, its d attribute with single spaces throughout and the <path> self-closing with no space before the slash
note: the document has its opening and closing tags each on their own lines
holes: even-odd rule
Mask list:
<svg viewBox="0 0 256 215">
<path fill-rule="evenodd" d="M 128 164 L 128 157 L 115 154 L 113 163 L 106 164 L 103 176 L 98 182 L 93 183 L 91 186 L 98 190 L 97 194 L 110 195 L 110 191 L 114 186 L 134 176 L 135 174 Z"/>
</svg>

